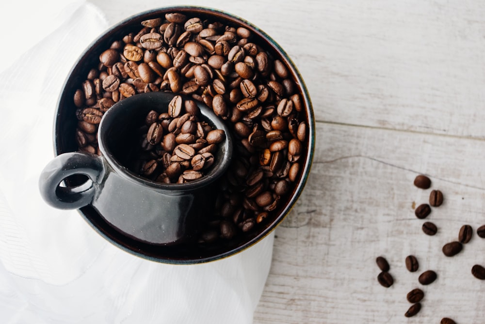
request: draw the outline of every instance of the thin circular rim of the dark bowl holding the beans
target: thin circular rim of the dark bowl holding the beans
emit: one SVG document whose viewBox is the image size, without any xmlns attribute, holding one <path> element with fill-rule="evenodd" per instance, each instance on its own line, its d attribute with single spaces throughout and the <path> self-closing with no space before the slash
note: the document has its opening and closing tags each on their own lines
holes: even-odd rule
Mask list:
<svg viewBox="0 0 485 324">
<path fill-rule="evenodd" d="M 117 31 L 122 30 L 124 27 L 127 25 L 130 25 L 132 23 L 136 22 L 141 22 L 144 19 L 144 17 L 150 16 L 150 15 L 163 15 L 169 12 L 195 12 L 195 13 L 200 13 L 202 15 L 222 15 L 223 19 L 230 21 L 231 23 L 235 23 L 237 25 L 245 25 L 249 27 L 253 32 L 256 32 L 259 38 L 261 40 L 267 42 L 272 48 L 273 51 L 276 52 L 276 54 L 283 60 L 286 61 L 288 68 L 291 70 L 292 77 L 294 78 L 295 83 L 301 90 L 300 94 L 302 95 L 302 99 L 305 103 L 305 111 L 306 111 L 306 118 L 307 118 L 307 128 L 308 128 L 308 136 L 307 136 L 307 153 L 305 156 L 305 163 L 302 165 L 303 168 L 300 170 L 300 180 L 298 184 L 294 188 L 294 192 L 291 196 L 291 199 L 288 200 L 287 204 L 284 206 L 284 208 L 281 210 L 279 215 L 275 217 L 274 221 L 269 224 L 263 231 L 259 232 L 256 236 L 252 237 L 249 240 L 244 240 L 243 244 L 240 244 L 236 247 L 230 248 L 224 252 L 217 253 L 214 255 L 210 255 L 207 257 L 200 257 L 200 258 L 194 258 L 194 257 L 189 257 L 185 258 L 184 256 L 179 256 L 179 257 L 163 257 L 163 256 L 154 256 L 149 253 L 147 253 L 146 250 L 144 250 L 143 244 L 138 244 L 139 242 L 131 242 L 127 243 L 128 239 L 123 239 L 120 240 L 118 239 L 117 235 L 113 235 L 110 233 L 110 231 L 107 231 L 106 229 L 102 228 L 102 224 L 100 225 L 99 222 L 96 222 L 93 220 L 91 217 L 88 216 L 89 210 L 88 208 L 92 208 L 90 205 L 86 207 L 82 207 L 81 209 L 78 209 L 78 212 L 81 214 L 81 216 L 87 221 L 87 223 L 95 230 L 97 231 L 102 237 L 107 239 L 110 243 L 113 245 L 129 252 L 130 254 L 133 254 L 135 256 L 141 257 L 143 259 L 147 259 L 150 261 L 154 262 L 161 262 L 161 263 L 169 263 L 169 264 L 197 264 L 197 263 L 206 263 L 206 262 L 212 262 L 220 259 L 224 259 L 226 257 L 238 254 L 245 249 L 253 246 L 263 238 L 265 238 L 267 235 L 269 235 L 272 231 L 275 230 L 275 228 L 288 216 L 294 207 L 296 201 L 300 198 L 303 189 L 305 185 L 307 184 L 307 180 L 310 174 L 311 166 L 313 163 L 313 157 L 314 157 L 314 150 L 315 150 L 315 115 L 313 112 L 313 106 L 311 103 L 310 95 L 308 93 L 307 86 L 305 84 L 305 81 L 303 80 L 303 77 L 301 76 L 298 68 L 296 67 L 296 64 L 291 60 L 290 56 L 286 53 L 286 51 L 271 37 L 269 36 L 266 32 L 262 31 L 259 27 L 254 25 L 253 23 L 249 22 L 248 20 L 240 17 L 239 15 L 235 15 L 232 13 L 228 13 L 226 11 L 220 10 L 220 9 L 215 9 L 211 7 L 206 7 L 206 6 L 198 6 L 198 5 L 176 5 L 176 6 L 162 6 L 162 7 L 157 7 L 153 9 L 149 9 L 146 11 L 139 12 L 134 15 L 130 15 L 125 19 L 120 20 L 119 22 L 113 24 L 110 26 L 108 29 L 105 31 L 101 32 L 93 42 L 91 42 L 86 48 L 82 51 L 81 55 L 78 57 L 78 59 L 73 63 L 73 66 L 69 70 L 67 77 L 64 80 L 63 86 L 62 86 L 62 91 L 59 95 L 57 105 L 56 105 L 56 113 L 54 117 L 54 125 L 53 125 L 53 144 L 54 144 L 54 154 L 59 155 L 62 153 L 65 153 L 63 151 L 63 148 L 61 147 L 61 142 L 58 137 L 59 129 L 60 129 L 60 118 L 61 114 L 59 113 L 59 110 L 61 108 L 61 105 L 64 100 L 64 96 L 66 95 L 66 89 L 68 88 L 69 81 L 71 78 L 74 77 L 74 73 L 78 68 L 81 68 L 81 62 L 84 58 L 89 57 L 89 54 L 93 51 L 93 48 L 96 48 L 97 43 L 101 42 L 103 39 L 109 38 L 110 36 L 113 36 L 113 34 Z M 91 55 L 93 55 L 91 53 Z M 95 211 L 95 213 L 97 213 Z M 102 215 L 99 215 L 101 218 Z M 110 226 L 107 224 L 107 226 Z M 122 234 L 121 234 L 122 235 Z"/>
</svg>

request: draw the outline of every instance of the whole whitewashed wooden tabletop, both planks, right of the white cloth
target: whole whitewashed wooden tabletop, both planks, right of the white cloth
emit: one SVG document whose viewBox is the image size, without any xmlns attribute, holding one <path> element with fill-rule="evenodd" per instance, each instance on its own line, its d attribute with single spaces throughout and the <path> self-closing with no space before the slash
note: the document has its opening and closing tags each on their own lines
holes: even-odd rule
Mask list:
<svg viewBox="0 0 485 324">
<path fill-rule="evenodd" d="M 172 0 L 90 0 L 111 24 Z M 484 323 L 485 240 L 453 258 L 441 247 L 463 224 L 485 224 L 485 2 L 477 0 L 193 0 L 249 20 L 299 68 L 313 102 L 317 146 L 310 178 L 276 229 L 256 324 Z M 445 196 L 421 231 L 413 206 Z M 407 255 L 420 269 L 410 273 Z M 395 279 L 376 280 L 385 256 Z M 438 274 L 418 283 L 427 269 Z M 406 293 L 425 293 L 407 319 Z"/>
</svg>

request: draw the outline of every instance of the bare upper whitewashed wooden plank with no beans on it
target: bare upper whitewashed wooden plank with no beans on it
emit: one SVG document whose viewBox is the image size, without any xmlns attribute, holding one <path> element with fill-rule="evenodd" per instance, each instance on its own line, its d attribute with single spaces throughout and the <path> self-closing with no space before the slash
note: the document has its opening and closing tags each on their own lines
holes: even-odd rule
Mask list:
<svg viewBox="0 0 485 324">
<path fill-rule="evenodd" d="M 163 6 L 90 1 L 113 24 Z M 485 2 L 191 4 L 242 16 L 272 36 L 300 70 L 320 121 L 485 138 Z"/>
</svg>

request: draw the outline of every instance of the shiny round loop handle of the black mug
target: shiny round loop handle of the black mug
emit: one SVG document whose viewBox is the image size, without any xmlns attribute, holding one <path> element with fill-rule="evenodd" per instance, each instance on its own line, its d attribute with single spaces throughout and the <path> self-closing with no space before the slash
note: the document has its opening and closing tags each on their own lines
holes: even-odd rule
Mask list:
<svg viewBox="0 0 485 324">
<path fill-rule="evenodd" d="M 81 152 L 63 153 L 42 170 L 39 189 L 42 198 L 59 209 L 77 209 L 90 204 L 105 173 L 102 157 Z M 89 179 L 81 185 L 61 186 L 68 176 L 83 174 Z"/>
</svg>

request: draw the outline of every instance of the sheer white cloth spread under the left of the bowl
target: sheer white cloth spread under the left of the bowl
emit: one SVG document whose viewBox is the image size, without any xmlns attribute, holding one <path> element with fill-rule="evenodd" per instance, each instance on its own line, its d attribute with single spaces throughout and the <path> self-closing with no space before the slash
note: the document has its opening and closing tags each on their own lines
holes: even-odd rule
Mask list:
<svg viewBox="0 0 485 324">
<path fill-rule="evenodd" d="M 0 323 L 252 323 L 274 234 L 220 261 L 162 264 L 113 246 L 77 211 L 41 199 L 59 93 L 108 27 L 90 3 L 47 2 L 34 7 L 33 23 L 22 20 L 23 30 L 35 30 L 24 37 L 30 47 L 16 39 L 1 54 Z"/>
</svg>

